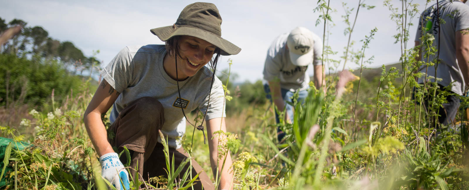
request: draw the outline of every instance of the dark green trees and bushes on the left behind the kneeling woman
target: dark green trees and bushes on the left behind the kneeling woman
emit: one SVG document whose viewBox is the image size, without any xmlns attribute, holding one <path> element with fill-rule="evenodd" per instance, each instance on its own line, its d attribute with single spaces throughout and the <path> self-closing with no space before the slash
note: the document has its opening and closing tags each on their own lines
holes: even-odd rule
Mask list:
<svg viewBox="0 0 469 190">
<path fill-rule="evenodd" d="M 21 31 L 0 45 L 0 106 L 27 103 L 50 111 L 53 92 L 55 102 L 76 95 L 99 61 L 94 55 L 86 57 L 70 41 L 50 37 L 41 26 L 29 26 L 16 18 L 6 22 L 0 17 L 0 35 L 18 26 Z M 83 76 L 83 71 L 89 76 Z"/>
</svg>

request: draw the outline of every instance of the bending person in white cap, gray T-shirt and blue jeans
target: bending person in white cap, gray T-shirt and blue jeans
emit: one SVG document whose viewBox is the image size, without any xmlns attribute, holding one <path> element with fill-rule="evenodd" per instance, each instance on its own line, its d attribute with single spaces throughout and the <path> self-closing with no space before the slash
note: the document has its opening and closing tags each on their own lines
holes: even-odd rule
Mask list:
<svg viewBox="0 0 469 190">
<path fill-rule="evenodd" d="M 296 27 L 290 33 L 275 38 L 267 50 L 264 65 L 264 90 L 267 98 L 274 102 L 278 110 L 286 110 L 286 121 L 293 122 L 293 107 L 286 102 L 293 102 L 292 97 L 299 90 L 299 102 L 308 95 L 310 76 L 306 73 L 308 65 L 314 67 L 314 84 L 317 89 L 323 85 L 322 76 L 322 41 L 304 27 Z M 280 123 L 277 113 L 275 120 Z M 277 139 L 283 139 L 285 133 L 277 129 Z"/>
</svg>

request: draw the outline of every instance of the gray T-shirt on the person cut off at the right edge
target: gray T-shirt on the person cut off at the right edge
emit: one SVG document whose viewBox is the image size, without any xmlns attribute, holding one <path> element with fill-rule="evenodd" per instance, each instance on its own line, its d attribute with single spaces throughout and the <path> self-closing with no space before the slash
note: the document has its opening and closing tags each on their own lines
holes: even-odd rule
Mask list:
<svg viewBox="0 0 469 190">
<path fill-rule="evenodd" d="M 441 23 L 441 28 L 439 28 L 437 17 L 437 5 L 433 5 L 427 8 L 423 13 L 422 17 L 418 23 L 418 29 L 416 32 L 415 41 L 421 43 L 421 35 L 422 35 L 422 22 L 424 22 L 424 26 L 431 26 L 429 27 L 428 31 L 424 31 L 423 34 L 429 32 L 433 34 L 435 40 L 433 41 L 433 46 L 438 48 L 438 41 L 439 41 L 439 58 L 440 63 L 437 68 L 437 78 L 441 78 L 441 81 L 438 81 L 440 85 L 449 86 L 452 81 L 453 87 L 451 90 L 459 95 L 462 95 L 464 91 L 464 80 L 462 77 L 461 69 L 459 68 L 458 62 L 456 60 L 456 40 L 455 40 L 455 33 L 461 29 L 469 28 L 469 6 L 462 3 L 459 0 L 442 0 L 439 2 L 439 15 L 446 23 Z M 431 17 L 428 21 L 425 21 L 427 16 Z M 422 20 L 423 18 L 423 20 Z M 428 23 L 428 24 L 427 24 Z M 426 27 L 427 28 L 427 27 Z M 438 35 L 438 31 L 441 34 Z M 438 40 L 439 36 L 441 37 Z M 424 51 L 424 50 L 423 50 Z M 422 52 L 422 60 L 427 62 L 427 58 L 424 58 L 425 52 Z M 438 52 L 435 55 L 430 56 L 428 61 L 436 59 L 438 57 Z M 420 68 L 421 72 L 425 71 L 426 66 L 422 66 Z M 435 67 L 430 66 L 428 67 L 428 75 L 434 76 L 435 75 Z M 432 79 L 431 81 L 435 81 Z M 419 83 L 424 82 L 424 77 L 418 79 Z"/>
</svg>

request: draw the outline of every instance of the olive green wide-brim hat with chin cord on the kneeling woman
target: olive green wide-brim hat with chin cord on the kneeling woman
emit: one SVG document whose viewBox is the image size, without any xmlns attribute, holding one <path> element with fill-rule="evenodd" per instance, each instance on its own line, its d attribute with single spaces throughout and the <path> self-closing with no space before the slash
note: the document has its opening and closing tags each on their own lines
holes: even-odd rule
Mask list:
<svg viewBox="0 0 469 190">
<path fill-rule="evenodd" d="M 192 3 L 182 9 L 173 26 L 150 31 L 161 41 L 181 35 L 198 37 L 220 48 L 221 55 L 236 55 L 241 51 L 241 48 L 221 37 L 221 16 L 212 3 Z"/>
</svg>

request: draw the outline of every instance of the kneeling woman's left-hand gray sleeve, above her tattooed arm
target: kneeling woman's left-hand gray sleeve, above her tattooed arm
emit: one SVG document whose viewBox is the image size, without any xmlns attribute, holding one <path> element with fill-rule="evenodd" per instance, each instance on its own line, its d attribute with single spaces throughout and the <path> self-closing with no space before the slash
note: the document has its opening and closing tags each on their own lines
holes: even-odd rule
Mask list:
<svg viewBox="0 0 469 190">
<path fill-rule="evenodd" d="M 101 71 L 104 79 L 119 93 L 129 86 L 133 72 L 132 57 L 129 49 L 122 49 Z"/>
</svg>

